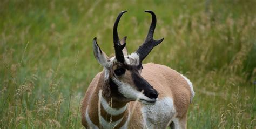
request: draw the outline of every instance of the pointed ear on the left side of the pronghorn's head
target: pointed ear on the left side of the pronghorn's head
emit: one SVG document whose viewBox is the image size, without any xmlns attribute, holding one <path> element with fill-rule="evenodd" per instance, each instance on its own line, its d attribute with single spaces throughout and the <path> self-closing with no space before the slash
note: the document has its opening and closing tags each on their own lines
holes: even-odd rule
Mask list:
<svg viewBox="0 0 256 129">
<path fill-rule="evenodd" d="M 97 44 L 96 37 L 93 38 L 93 55 L 97 59 L 98 63 L 106 68 L 110 67 L 109 57 L 100 49 Z"/>
</svg>

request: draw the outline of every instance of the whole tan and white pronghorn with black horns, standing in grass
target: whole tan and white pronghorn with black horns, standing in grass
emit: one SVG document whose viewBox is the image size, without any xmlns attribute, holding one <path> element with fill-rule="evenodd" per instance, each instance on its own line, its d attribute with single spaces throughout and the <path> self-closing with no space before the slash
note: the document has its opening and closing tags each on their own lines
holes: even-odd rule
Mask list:
<svg viewBox="0 0 256 129">
<path fill-rule="evenodd" d="M 86 128 L 186 128 L 188 105 L 194 97 L 190 80 L 167 66 L 142 61 L 164 38 L 154 40 L 156 15 L 145 42 L 127 55 L 126 37 L 119 40 L 113 26 L 115 56 L 109 58 L 93 39 L 93 53 L 104 67 L 89 85 L 82 101 L 82 124 Z M 141 102 L 141 103 L 138 103 Z"/>
</svg>

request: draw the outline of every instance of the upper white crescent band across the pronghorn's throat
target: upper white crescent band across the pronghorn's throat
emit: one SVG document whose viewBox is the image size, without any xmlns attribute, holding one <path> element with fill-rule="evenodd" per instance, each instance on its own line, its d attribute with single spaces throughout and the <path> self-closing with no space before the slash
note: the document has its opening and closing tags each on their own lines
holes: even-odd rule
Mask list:
<svg viewBox="0 0 256 129">
<path fill-rule="evenodd" d="M 127 104 L 124 107 L 119 108 L 119 109 L 112 108 L 103 97 L 101 98 L 100 103 L 102 104 L 102 106 L 103 106 L 104 110 L 107 112 L 107 114 L 110 114 L 110 115 L 119 115 L 119 114 L 125 112 L 125 110 L 127 108 Z"/>
</svg>

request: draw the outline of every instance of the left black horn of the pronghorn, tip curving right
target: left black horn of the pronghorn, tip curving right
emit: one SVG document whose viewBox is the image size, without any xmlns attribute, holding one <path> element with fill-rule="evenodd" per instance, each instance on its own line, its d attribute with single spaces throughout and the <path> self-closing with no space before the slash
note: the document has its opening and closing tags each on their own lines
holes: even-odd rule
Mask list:
<svg viewBox="0 0 256 129">
<path fill-rule="evenodd" d="M 125 13 L 125 12 L 127 12 L 127 11 L 122 11 L 121 13 L 119 13 L 119 15 L 116 19 L 116 22 L 114 22 L 114 27 L 113 27 L 114 51 L 116 54 L 116 59 L 120 63 L 124 63 L 124 53 L 122 50 L 125 47 L 125 43 L 123 45 L 120 44 L 120 40 L 119 40 L 118 33 L 117 33 L 117 26 L 120 21 L 120 18 L 122 17 L 123 13 Z"/>
</svg>

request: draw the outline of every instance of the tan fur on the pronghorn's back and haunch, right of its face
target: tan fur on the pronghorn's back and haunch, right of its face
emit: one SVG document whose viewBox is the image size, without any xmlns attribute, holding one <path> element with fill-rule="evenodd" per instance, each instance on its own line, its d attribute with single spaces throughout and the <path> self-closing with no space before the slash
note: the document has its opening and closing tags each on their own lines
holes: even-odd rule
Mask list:
<svg viewBox="0 0 256 129">
<path fill-rule="evenodd" d="M 142 77 L 158 91 L 159 99 L 166 96 L 173 98 L 178 117 L 183 117 L 192 96 L 186 80 L 177 71 L 164 65 L 149 63 L 143 67 Z"/>
</svg>

